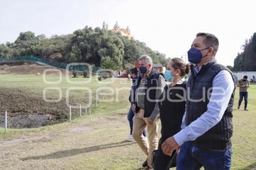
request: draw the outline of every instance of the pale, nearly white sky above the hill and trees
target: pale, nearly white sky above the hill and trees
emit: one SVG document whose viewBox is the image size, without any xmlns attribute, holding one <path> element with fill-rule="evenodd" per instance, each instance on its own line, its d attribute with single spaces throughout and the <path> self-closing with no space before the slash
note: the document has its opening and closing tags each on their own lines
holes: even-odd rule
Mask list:
<svg viewBox="0 0 256 170">
<path fill-rule="evenodd" d="M 129 26 L 131 34 L 167 57 L 185 55 L 198 32 L 220 42 L 217 61 L 233 65 L 245 39 L 256 32 L 254 0 L 0 0 L 0 43 L 20 32 L 69 34 L 86 25 Z"/>
</svg>

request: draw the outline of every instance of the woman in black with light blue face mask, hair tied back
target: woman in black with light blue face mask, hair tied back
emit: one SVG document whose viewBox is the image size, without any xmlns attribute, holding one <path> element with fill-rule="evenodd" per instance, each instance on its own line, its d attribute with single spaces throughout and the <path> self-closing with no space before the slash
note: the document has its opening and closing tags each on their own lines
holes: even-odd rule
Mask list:
<svg viewBox="0 0 256 170">
<path fill-rule="evenodd" d="M 183 59 L 173 58 L 167 64 L 164 73 L 168 85 L 162 94 L 162 102 L 158 102 L 161 120 L 161 138 L 158 150 L 153 153 L 153 166 L 155 170 L 166 170 L 176 166 L 176 156 L 165 155 L 161 149 L 162 143 L 180 131 L 182 118 L 185 112 L 186 80 L 184 76 L 190 71 L 189 64 Z M 161 99 L 161 98 L 160 98 Z"/>
</svg>

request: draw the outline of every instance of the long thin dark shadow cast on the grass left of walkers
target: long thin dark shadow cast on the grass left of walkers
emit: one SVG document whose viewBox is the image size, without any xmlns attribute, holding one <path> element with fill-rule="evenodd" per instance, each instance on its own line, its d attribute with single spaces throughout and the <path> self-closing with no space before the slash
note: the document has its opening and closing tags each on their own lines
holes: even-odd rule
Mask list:
<svg viewBox="0 0 256 170">
<path fill-rule="evenodd" d="M 21 158 L 20 160 L 29 160 L 29 159 L 58 159 L 58 158 L 64 158 L 69 156 L 74 156 L 82 153 L 88 153 L 88 152 L 94 152 L 97 150 L 103 150 L 103 149 L 109 149 L 114 147 L 123 147 L 126 145 L 132 145 L 135 144 L 135 142 L 128 142 L 128 141 L 122 141 L 112 144 L 102 144 L 97 146 L 91 146 L 91 147 L 85 147 L 85 148 L 78 148 L 78 149 L 70 149 L 70 150 L 61 150 L 57 152 L 53 152 L 47 155 L 42 156 L 30 156 L 26 158 Z"/>
</svg>

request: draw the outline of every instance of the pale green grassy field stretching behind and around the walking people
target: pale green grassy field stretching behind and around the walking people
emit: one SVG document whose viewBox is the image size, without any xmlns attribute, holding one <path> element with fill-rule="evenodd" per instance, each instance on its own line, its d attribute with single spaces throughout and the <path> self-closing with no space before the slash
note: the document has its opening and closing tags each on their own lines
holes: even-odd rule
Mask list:
<svg viewBox="0 0 256 170">
<path fill-rule="evenodd" d="M 47 76 L 48 81 L 57 79 L 58 76 Z M 95 77 L 92 83 L 87 85 L 69 84 L 65 77 L 62 77 L 60 84 L 48 85 L 43 83 L 42 76 L 0 74 L 1 112 L 10 110 L 34 113 L 37 110 L 46 112 L 62 109 L 67 115 L 64 99 L 58 104 L 46 104 L 42 101 L 42 90 L 49 86 L 61 88 L 65 97 L 69 87 L 89 87 L 95 94 L 96 89 L 103 85 L 98 84 Z M 129 88 L 130 82 L 115 80 L 108 87 Z M 124 141 L 124 137 L 129 133 L 126 120 L 128 95 L 128 90 L 122 90 L 119 102 L 99 102 L 98 108 L 93 104 L 92 115 L 76 117 L 71 123 L 64 121 L 39 128 L 8 129 L 6 134 L 4 129 L 0 128 L 0 169 L 141 169 L 141 163 L 146 156 L 135 142 Z M 253 84 L 249 90 L 249 111 L 238 111 L 236 108 L 239 89 L 236 90 L 232 169 L 256 169 L 255 95 L 256 85 Z M 58 93 L 51 91 L 47 93 L 47 97 L 56 99 Z M 82 90 L 72 91 L 71 97 L 74 105 L 87 101 Z M 111 95 L 105 96 L 110 97 Z M 243 104 L 244 102 L 242 108 Z"/>
</svg>

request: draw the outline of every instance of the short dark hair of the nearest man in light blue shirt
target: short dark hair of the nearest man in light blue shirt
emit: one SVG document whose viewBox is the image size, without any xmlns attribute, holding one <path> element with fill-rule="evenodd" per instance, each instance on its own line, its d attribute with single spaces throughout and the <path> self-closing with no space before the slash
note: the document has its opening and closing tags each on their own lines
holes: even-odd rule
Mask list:
<svg viewBox="0 0 256 170">
<path fill-rule="evenodd" d="M 219 40 L 215 35 L 205 32 L 197 33 L 196 37 L 205 37 L 204 44 L 206 47 L 213 47 L 213 55 L 215 56 L 219 48 Z"/>
</svg>

